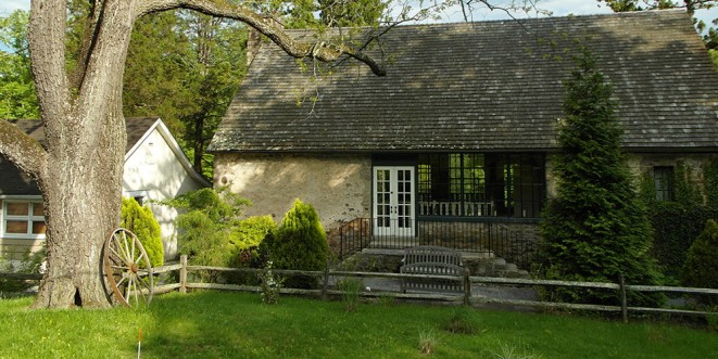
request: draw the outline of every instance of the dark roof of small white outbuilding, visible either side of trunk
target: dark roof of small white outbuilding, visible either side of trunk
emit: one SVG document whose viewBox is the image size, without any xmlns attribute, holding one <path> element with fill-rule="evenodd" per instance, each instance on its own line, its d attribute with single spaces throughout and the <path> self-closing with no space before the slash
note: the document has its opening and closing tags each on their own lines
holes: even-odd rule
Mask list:
<svg viewBox="0 0 718 359">
<path fill-rule="evenodd" d="M 129 151 L 144 132 L 158 121 L 158 117 L 133 117 L 127 118 L 127 146 Z M 9 119 L 25 133 L 45 144 L 45 128 L 37 119 Z M 0 155 L 0 195 L 40 195 L 37 184 L 28 176 L 23 174 L 15 165 Z"/>
</svg>

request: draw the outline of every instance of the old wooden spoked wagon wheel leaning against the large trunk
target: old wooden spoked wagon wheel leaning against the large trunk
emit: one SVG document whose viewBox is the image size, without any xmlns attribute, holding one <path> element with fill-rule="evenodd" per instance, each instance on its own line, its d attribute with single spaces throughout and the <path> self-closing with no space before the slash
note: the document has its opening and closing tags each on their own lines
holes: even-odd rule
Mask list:
<svg viewBox="0 0 718 359">
<path fill-rule="evenodd" d="M 119 228 L 104 242 L 102 270 L 114 297 L 128 307 L 152 302 L 154 278 L 144 247 L 135 233 Z"/>
</svg>

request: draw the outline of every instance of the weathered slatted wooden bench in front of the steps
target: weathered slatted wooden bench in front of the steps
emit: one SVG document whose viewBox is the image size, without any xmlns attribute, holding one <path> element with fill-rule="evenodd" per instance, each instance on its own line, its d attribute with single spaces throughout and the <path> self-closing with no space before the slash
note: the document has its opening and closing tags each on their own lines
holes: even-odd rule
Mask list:
<svg viewBox="0 0 718 359">
<path fill-rule="evenodd" d="M 462 267 L 461 253 L 439 246 L 423 245 L 407 248 L 402 262 L 402 274 L 463 277 L 466 271 Z M 402 279 L 401 291 L 406 293 L 407 290 L 463 293 L 464 282 L 420 277 Z"/>
</svg>

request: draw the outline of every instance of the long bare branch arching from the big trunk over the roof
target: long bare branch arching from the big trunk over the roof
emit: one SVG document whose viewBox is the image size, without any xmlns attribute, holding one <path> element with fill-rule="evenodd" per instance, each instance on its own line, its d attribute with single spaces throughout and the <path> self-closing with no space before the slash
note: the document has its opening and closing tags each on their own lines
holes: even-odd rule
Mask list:
<svg viewBox="0 0 718 359">
<path fill-rule="evenodd" d="M 267 22 L 264 16 L 257 14 L 254 10 L 225 0 L 148 0 L 143 1 L 139 7 L 139 15 L 171 9 L 189 9 L 211 16 L 237 20 L 269 38 L 269 40 L 293 57 L 313 57 L 323 62 L 333 62 L 342 55 L 349 55 L 365 63 L 375 75 L 387 75 L 383 66 L 374 59 L 344 43 L 307 43 L 295 41 L 287 35 L 284 28 L 277 26 L 275 22 Z"/>
</svg>

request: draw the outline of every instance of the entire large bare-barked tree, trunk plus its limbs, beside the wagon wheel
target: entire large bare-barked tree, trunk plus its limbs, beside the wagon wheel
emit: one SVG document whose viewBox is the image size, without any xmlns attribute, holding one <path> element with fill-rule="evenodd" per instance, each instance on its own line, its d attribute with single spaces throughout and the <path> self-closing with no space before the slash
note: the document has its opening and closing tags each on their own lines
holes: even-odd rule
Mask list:
<svg viewBox="0 0 718 359">
<path fill-rule="evenodd" d="M 83 3 L 89 3 L 86 15 L 74 17 L 68 4 Z M 0 154 L 36 179 L 46 203 L 48 270 L 36 307 L 70 307 L 76 298 L 85 307 L 110 306 L 100 260 L 106 233 L 119 223 L 127 138 L 122 87 L 131 29 L 143 16 L 177 9 L 243 22 L 294 57 L 351 55 L 385 74 L 351 44 L 337 46 L 340 40 L 292 40 L 243 2 L 33 0 L 27 39 L 47 145 L 0 121 Z"/>
</svg>

